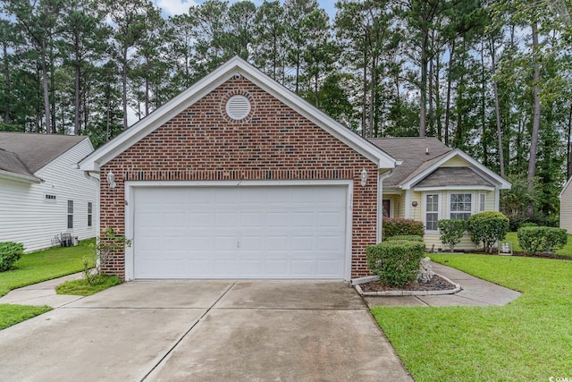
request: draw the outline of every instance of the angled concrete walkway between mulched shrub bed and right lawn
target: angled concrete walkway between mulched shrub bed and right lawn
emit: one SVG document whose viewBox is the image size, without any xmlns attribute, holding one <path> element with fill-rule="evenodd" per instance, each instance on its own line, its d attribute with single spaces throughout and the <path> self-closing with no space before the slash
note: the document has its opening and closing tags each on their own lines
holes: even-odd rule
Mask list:
<svg viewBox="0 0 572 382">
<path fill-rule="evenodd" d="M 374 306 L 502 306 L 522 294 L 433 261 L 431 266 L 435 273 L 460 284 L 462 290 L 455 294 L 438 296 L 365 296 L 364 300 L 370 308 Z"/>
</svg>

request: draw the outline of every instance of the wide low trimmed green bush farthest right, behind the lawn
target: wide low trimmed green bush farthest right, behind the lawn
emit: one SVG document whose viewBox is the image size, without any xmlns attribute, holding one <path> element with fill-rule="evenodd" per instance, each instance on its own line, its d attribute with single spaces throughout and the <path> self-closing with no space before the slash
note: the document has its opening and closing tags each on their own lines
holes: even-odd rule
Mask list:
<svg viewBox="0 0 572 382">
<path fill-rule="evenodd" d="M 517 237 L 520 248 L 530 254 L 559 250 L 568 242 L 565 229 L 546 226 L 519 228 Z"/>
</svg>

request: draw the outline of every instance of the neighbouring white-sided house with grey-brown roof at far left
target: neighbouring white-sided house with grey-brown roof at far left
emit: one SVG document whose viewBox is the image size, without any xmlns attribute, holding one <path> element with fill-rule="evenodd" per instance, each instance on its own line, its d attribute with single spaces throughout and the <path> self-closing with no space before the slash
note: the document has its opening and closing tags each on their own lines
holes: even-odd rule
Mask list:
<svg viewBox="0 0 572 382">
<path fill-rule="evenodd" d="M 29 252 L 97 236 L 99 181 L 77 166 L 92 151 L 88 137 L 0 132 L 0 242 Z"/>
</svg>

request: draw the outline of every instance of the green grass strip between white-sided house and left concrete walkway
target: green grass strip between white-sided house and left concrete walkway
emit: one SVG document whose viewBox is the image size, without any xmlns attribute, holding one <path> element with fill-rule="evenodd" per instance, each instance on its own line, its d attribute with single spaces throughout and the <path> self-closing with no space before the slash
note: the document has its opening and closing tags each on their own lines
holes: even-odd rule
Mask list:
<svg viewBox="0 0 572 382">
<path fill-rule="evenodd" d="M 0 273 L 0 297 L 15 288 L 83 270 L 83 258 L 93 256 L 90 244 L 95 239 L 80 242 L 75 247 L 52 248 L 27 253 L 14 264 L 14 269 Z"/>
</svg>

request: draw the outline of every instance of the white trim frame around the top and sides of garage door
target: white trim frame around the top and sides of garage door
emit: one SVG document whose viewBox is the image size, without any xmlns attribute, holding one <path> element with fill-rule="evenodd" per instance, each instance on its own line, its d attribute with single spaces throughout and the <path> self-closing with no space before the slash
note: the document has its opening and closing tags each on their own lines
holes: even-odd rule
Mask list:
<svg viewBox="0 0 572 382">
<path fill-rule="evenodd" d="M 134 197 L 138 187 L 261 187 L 261 186 L 327 186 L 345 185 L 348 187 L 346 200 L 346 248 L 344 256 L 344 279 L 351 277 L 351 233 L 352 233 L 352 200 L 353 182 L 349 180 L 320 180 L 320 181 L 131 181 L 125 183 L 125 233 L 127 238 L 134 236 Z M 134 279 L 134 248 L 128 247 L 125 250 L 125 279 Z"/>
</svg>

